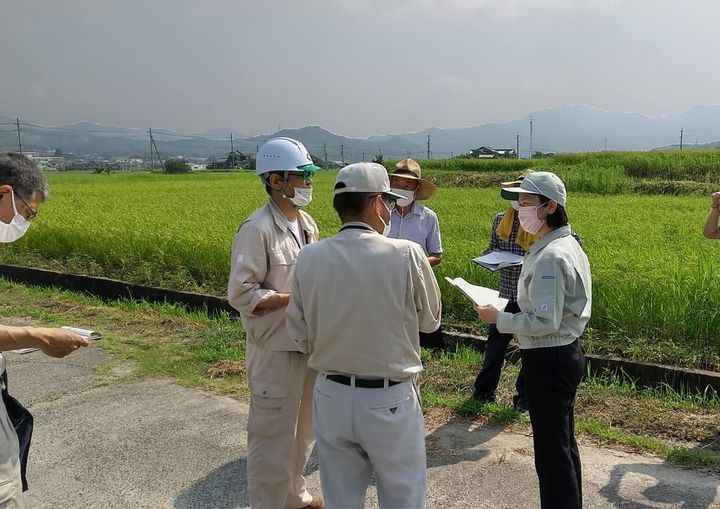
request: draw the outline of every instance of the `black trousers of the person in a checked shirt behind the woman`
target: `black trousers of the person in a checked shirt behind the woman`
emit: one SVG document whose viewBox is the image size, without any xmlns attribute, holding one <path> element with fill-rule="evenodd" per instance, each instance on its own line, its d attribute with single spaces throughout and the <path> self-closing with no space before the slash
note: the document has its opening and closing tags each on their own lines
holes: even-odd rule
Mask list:
<svg viewBox="0 0 720 509">
<path fill-rule="evenodd" d="M 517 302 L 508 302 L 505 306 L 506 313 L 519 313 L 520 307 Z M 495 324 L 490 325 L 488 333 L 487 346 L 485 347 L 485 360 L 483 366 L 475 378 L 475 393 L 473 397 L 479 400 L 495 401 L 495 391 L 500 382 L 500 372 L 505 362 L 505 351 L 507 350 L 512 334 L 503 334 L 497 330 Z M 513 398 L 513 403 L 524 405 L 525 403 L 525 365 L 523 364 L 515 381 L 515 390 L 517 395 Z"/>
</svg>

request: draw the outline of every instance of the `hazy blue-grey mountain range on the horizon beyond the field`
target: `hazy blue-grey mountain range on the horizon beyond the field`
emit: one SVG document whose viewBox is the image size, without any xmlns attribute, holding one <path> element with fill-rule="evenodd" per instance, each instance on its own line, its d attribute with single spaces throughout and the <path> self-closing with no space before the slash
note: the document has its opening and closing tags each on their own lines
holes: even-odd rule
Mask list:
<svg viewBox="0 0 720 509">
<path fill-rule="evenodd" d="M 520 136 L 520 154 L 529 154 L 530 119 L 533 124 L 533 151 L 582 152 L 604 150 L 650 150 L 679 145 L 680 130 L 687 148 L 717 147 L 720 140 L 720 106 L 697 106 L 684 113 L 649 116 L 639 113 L 604 111 L 587 105 L 567 105 L 533 112 L 508 122 L 487 123 L 458 129 L 430 128 L 415 133 L 348 138 L 318 126 L 283 129 L 276 133 L 248 137 L 230 129 L 216 128 L 202 133 L 153 129 L 160 155 L 165 157 L 224 158 L 233 148 L 255 153 L 257 146 L 273 136 L 301 140 L 314 155 L 340 161 L 370 160 L 381 152 L 386 158 L 427 157 L 427 141 L 433 158 L 459 155 L 482 145 L 514 148 Z M 0 150 L 17 149 L 15 118 L 0 115 Z M 125 128 L 79 122 L 42 126 L 20 120 L 24 150 L 52 151 L 98 156 L 148 156 L 150 142 L 144 128 Z"/>
</svg>

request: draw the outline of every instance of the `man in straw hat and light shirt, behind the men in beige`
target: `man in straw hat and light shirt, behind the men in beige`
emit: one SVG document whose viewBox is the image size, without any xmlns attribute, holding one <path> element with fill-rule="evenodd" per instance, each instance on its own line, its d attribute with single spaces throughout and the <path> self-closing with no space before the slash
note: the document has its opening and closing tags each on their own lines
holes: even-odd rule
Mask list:
<svg viewBox="0 0 720 509">
<path fill-rule="evenodd" d="M 422 178 L 422 170 L 416 161 L 403 159 L 395 165 L 395 171 L 390 174 L 390 186 L 393 193 L 402 198 L 398 199 L 397 206 L 390 215 L 391 228 L 388 237 L 412 240 L 420 244 L 430 266 L 440 264 L 443 250 L 437 214 L 419 203 L 435 195 L 435 184 Z M 433 350 L 442 349 L 442 329 L 438 328 L 429 334 L 421 332 L 420 346 Z"/>
</svg>

